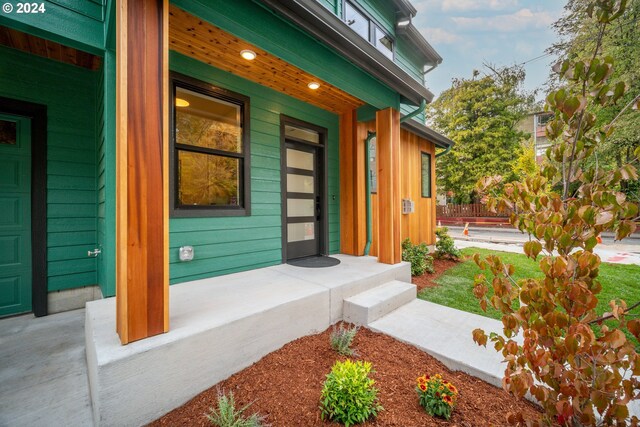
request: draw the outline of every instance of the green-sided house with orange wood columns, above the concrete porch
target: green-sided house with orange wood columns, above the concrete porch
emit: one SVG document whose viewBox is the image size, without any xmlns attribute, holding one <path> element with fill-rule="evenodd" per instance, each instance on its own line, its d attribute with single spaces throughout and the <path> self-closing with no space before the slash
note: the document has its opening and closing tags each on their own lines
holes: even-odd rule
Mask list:
<svg viewBox="0 0 640 427">
<path fill-rule="evenodd" d="M 127 343 L 167 330 L 169 283 L 363 255 L 369 131 L 370 254 L 434 243 L 452 142 L 424 125 L 441 57 L 407 0 L 17 5 L 0 14 L 0 316 L 117 292 Z"/>
</svg>

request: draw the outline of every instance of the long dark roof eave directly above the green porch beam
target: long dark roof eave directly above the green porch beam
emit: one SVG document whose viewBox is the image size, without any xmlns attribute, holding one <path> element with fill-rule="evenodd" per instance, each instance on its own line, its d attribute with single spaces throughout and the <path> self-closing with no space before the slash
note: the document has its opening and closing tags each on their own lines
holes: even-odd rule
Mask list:
<svg viewBox="0 0 640 427">
<path fill-rule="evenodd" d="M 433 93 L 315 0 L 260 0 L 415 105 Z M 398 0 L 399 1 L 399 0 Z"/>
</svg>

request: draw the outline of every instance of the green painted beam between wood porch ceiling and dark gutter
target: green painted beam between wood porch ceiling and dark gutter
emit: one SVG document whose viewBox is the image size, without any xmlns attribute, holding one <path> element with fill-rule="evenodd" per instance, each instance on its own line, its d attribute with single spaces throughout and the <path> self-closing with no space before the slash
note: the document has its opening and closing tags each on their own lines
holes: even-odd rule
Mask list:
<svg viewBox="0 0 640 427">
<path fill-rule="evenodd" d="M 371 105 L 399 106 L 395 91 L 263 5 L 250 0 L 215 3 L 175 0 L 172 3 Z"/>
</svg>

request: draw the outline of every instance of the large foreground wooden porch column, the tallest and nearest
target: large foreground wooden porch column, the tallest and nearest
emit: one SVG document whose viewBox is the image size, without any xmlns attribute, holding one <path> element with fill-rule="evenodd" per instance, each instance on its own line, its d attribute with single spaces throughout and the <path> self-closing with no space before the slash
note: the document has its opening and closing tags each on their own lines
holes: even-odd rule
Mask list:
<svg viewBox="0 0 640 427">
<path fill-rule="evenodd" d="M 169 330 L 168 0 L 116 3 L 116 329 Z"/>
</svg>

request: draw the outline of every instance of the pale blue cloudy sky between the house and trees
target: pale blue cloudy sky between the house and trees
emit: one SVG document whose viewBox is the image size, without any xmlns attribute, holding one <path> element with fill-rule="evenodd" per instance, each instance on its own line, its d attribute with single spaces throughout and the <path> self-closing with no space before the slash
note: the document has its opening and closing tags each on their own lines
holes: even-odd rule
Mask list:
<svg viewBox="0 0 640 427">
<path fill-rule="evenodd" d="M 524 64 L 526 90 L 542 87 L 553 57 L 544 56 L 555 40 L 551 24 L 562 16 L 564 0 L 412 0 L 413 24 L 442 56 L 426 75 L 438 96 L 453 77 L 470 78 L 482 66 Z M 538 58 L 538 59 L 535 59 Z M 544 98 L 539 93 L 537 99 Z"/>
</svg>

